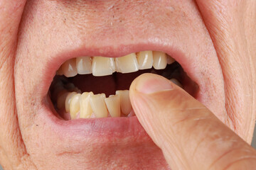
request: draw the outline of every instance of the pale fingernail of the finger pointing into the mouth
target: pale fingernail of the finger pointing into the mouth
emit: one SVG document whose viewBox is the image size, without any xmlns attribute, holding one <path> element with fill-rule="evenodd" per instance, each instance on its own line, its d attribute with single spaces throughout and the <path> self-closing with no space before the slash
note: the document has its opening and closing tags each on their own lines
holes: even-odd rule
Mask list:
<svg viewBox="0 0 256 170">
<path fill-rule="evenodd" d="M 173 89 L 171 82 L 156 74 L 142 74 L 137 78 L 136 90 L 143 94 L 153 94 L 171 89 Z"/>
</svg>

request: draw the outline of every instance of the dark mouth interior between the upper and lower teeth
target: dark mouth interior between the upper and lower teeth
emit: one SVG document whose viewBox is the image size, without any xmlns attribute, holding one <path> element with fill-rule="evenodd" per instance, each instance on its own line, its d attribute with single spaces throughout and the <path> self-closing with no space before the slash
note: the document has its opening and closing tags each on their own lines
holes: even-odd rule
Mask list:
<svg viewBox="0 0 256 170">
<path fill-rule="evenodd" d="M 198 86 L 194 81 L 192 81 L 183 71 L 182 67 L 178 62 L 173 64 L 168 64 L 165 69 L 144 69 L 139 70 L 138 72 L 132 72 L 128 74 L 122 74 L 119 72 L 114 72 L 112 75 L 104 77 L 94 77 L 92 74 L 83 74 L 76 75 L 75 77 L 65 77 L 65 76 L 55 76 L 53 82 L 50 86 L 50 96 L 53 102 L 53 105 L 56 104 L 56 98 L 54 97 L 53 86 L 56 83 L 62 82 L 66 89 L 69 91 L 74 91 L 79 89 L 81 92 L 90 92 L 93 94 L 106 94 L 106 97 L 115 94 L 117 90 L 129 90 L 129 86 L 132 84 L 132 81 L 141 74 L 144 73 L 153 73 L 159 74 L 166 79 L 177 79 L 183 86 L 183 89 L 191 94 L 191 96 L 196 96 L 198 91 Z M 56 111 L 58 108 L 55 106 Z"/>
</svg>

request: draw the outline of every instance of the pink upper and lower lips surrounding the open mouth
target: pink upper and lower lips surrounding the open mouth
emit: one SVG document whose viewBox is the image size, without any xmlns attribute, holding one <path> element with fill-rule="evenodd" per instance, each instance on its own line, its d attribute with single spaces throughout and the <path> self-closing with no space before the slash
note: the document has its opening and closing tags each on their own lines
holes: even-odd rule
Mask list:
<svg viewBox="0 0 256 170">
<path fill-rule="evenodd" d="M 73 50 L 67 50 L 57 57 L 54 60 L 50 60 L 48 63 L 48 69 L 43 74 L 46 81 L 43 83 L 43 88 L 41 89 L 43 100 L 43 108 L 41 108 L 40 115 L 42 119 L 46 119 L 47 124 L 51 124 L 55 127 L 55 130 L 58 131 L 58 134 L 72 134 L 72 135 L 82 135 L 82 136 L 97 136 L 97 137 L 135 137 L 139 136 L 146 137 L 146 132 L 140 125 L 137 117 L 130 118 L 97 118 L 97 119 L 78 119 L 78 120 L 61 120 L 57 118 L 53 104 L 50 101 L 50 98 L 47 98 L 48 89 L 50 84 L 55 76 L 55 72 L 58 70 L 63 62 L 80 56 L 104 56 L 104 57 L 122 57 L 124 55 L 128 55 L 132 52 L 139 52 L 144 50 L 154 50 L 154 51 L 163 51 L 166 54 L 171 55 L 181 67 L 183 67 L 184 71 L 188 74 L 188 76 L 198 84 L 200 87 L 201 82 L 198 81 L 198 77 L 196 74 L 192 74 L 195 72 L 191 67 L 191 61 L 183 55 L 178 47 L 174 47 L 172 45 L 159 45 L 154 43 L 139 43 L 133 45 L 120 45 L 118 47 L 110 47 L 105 46 L 101 48 L 93 48 L 93 47 L 80 47 Z M 47 76 L 50 75 L 50 76 Z M 195 97 L 201 98 L 200 93 Z M 45 116 L 47 115 L 47 116 Z"/>
</svg>

